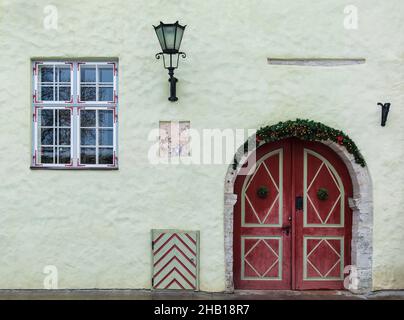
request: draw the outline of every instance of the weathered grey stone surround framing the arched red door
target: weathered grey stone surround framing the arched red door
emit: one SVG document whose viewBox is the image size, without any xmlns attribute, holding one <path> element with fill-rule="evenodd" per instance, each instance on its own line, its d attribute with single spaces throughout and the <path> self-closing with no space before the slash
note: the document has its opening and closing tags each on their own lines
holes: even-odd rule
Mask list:
<svg viewBox="0 0 404 320">
<path fill-rule="evenodd" d="M 256 136 L 249 137 L 247 142 L 255 144 Z M 352 243 L 351 261 L 357 270 L 357 291 L 372 290 L 372 234 L 373 234 L 373 200 L 372 182 L 366 166 L 358 163 L 357 158 L 341 144 L 332 140 L 319 141 L 342 159 L 349 171 L 353 185 L 353 197 L 349 199 L 352 209 Z M 233 282 L 233 214 L 237 195 L 234 193 L 234 182 L 240 168 L 255 149 L 245 152 L 245 144 L 237 151 L 238 161 L 228 167 L 224 186 L 224 249 L 225 249 L 225 285 L 226 291 L 234 290 Z"/>
</svg>

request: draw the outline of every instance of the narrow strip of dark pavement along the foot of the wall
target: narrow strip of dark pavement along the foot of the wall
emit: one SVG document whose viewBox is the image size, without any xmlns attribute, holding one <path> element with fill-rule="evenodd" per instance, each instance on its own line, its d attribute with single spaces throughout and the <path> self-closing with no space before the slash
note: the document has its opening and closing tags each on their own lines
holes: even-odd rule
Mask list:
<svg viewBox="0 0 404 320">
<path fill-rule="evenodd" d="M 404 300 L 404 291 L 352 294 L 347 291 L 235 291 L 234 293 L 150 290 L 0 290 L 0 300 Z"/>
</svg>

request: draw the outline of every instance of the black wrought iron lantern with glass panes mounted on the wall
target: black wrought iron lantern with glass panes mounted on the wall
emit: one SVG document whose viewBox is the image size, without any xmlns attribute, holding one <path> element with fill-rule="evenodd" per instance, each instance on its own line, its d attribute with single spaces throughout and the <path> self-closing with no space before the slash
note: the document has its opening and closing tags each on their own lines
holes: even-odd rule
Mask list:
<svg viewBox="0 0 404 320">
<path fill-rule="evenodd" d="M 186 57 L 186 54 L 180 51 L 186 26 L 181 26 L 178 21 L 170 24 L 160 21 L 157 27 L 153 27 L 162 50 L 162 52 L 156 54 L 156 59 L 163 57 L 164 68 L 168 70 L 168 75 L 170 76 L 168 80 L 170 82 L 170 97 L 168 100 L 174 102 L 178 100 L 176 96 L 178 79 L 174 77 L 174 70 L 178 68 L 180 56 L 182 58 Z"/>
</svg>

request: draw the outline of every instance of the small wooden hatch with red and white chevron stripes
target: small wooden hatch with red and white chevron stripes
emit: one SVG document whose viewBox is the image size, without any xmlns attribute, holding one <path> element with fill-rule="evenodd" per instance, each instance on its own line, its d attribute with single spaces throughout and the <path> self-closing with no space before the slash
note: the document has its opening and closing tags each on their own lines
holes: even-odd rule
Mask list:
<svg viewBox="0 0 404 320">
<path fill-rule="evenodd" d="M 199 290 L 199 231 L 152 230 L 153 289 Z"/>
</svg>

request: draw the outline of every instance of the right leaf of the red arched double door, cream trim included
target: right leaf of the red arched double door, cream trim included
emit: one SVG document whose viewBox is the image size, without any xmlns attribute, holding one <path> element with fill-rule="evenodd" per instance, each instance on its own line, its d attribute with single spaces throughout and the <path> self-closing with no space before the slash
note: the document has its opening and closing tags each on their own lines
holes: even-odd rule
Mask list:
<svg viewBox="0 0 404 320">
<path fill-rule="evenodd" d="M 295 193 L 303 197 L 294 219 L 295 288 L 343 289 L 352 229 L 348 170 L 334 151 L 316 142 L 295 141 L 292 165 Z"/>
</svg>

